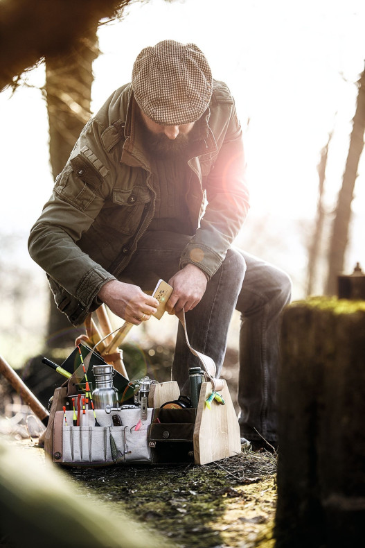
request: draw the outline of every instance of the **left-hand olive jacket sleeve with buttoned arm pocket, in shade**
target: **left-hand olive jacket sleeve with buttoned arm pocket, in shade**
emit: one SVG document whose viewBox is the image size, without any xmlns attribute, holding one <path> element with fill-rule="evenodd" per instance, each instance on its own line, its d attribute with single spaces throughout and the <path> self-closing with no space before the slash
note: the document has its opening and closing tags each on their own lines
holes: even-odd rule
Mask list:
<svg viewBox="0 0 365 548">
<path fill-rule="evenodd" d="M 84 128 L 28 241 L 35 262 L 86 310 L 100 287 L 114 280 L 77 243 L 103 207 L 114 178 L 100 135 L 96 121 Z"/>
</svg>

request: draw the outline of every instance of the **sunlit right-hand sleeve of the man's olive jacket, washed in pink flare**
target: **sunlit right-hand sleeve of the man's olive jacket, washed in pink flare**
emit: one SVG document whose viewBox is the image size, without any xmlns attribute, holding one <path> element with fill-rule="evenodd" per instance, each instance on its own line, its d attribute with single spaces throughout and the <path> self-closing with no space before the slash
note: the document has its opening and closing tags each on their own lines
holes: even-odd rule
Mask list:
<svg viewBox="0 0 365 548">
<path fill-rule="evenodd" d="M 181 266 L 196 264 L 208 279 L 220 267 L 249 210 L 245 175 L 242 129 L 233 105 L 222 146 L 206 179 L 206 210 L 181 254 Z"/>
</svg>

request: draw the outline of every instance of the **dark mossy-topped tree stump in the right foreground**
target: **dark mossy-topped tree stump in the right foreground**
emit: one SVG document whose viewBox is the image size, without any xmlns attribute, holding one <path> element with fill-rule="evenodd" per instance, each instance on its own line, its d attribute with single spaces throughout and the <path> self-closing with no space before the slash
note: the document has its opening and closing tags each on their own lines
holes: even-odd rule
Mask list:
<svg viewBox="0 0 365 548">
<path fill-rule="evenodd" d="M 364 545 L 365 302 L 285 310 L 276 548 Z"/>
</svg>

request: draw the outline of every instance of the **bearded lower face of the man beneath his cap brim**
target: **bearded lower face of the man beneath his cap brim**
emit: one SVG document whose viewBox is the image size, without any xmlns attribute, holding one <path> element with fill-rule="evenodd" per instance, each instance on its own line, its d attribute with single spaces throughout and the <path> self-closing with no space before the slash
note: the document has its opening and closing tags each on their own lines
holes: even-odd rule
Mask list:
<svg viewBox="0 0 365 548">
<path fill-rule="evenodd" d="M 181 126 L 160 126 L 141 110 L 139 112 L 145 129 L 143 141 L 150 153 L 167 157 L 186 151 L 195 122 L 184 123 Z"/>
</svg>

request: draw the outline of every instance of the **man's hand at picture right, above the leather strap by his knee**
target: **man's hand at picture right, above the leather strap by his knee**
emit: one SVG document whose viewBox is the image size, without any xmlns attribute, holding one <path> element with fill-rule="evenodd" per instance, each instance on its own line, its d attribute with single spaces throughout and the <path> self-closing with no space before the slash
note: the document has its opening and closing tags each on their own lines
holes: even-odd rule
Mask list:
<svg viewBox="0 0 365 548">
<path fill-rule="evenodd" d="M 168 314 L 175 314 L 183 308 L 187 312 L 197 306 L 205 293 L 208 280 L 198 266 L 189 263 L 173 275 L 168 283 L 174 291 L 166 304 L 166 310 Z"/>
</svg>

